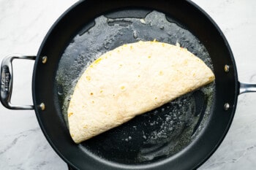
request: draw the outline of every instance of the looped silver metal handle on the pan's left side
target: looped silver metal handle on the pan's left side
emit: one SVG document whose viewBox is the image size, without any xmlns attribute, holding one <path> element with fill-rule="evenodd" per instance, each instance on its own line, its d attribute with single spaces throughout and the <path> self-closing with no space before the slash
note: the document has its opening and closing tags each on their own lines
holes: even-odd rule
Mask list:
<svg viewBox="0 0 256 170">
<path fill-rule="evenodd" d="M 32 105 L 13 105 L 11 104 L 12 97 L 12 60 L 13 59 L 29 59 L 35 60 L 36 56 L 9 56 L 1 62 L 1 104 L 7 109 L 34 109 Z"/>
</svg>

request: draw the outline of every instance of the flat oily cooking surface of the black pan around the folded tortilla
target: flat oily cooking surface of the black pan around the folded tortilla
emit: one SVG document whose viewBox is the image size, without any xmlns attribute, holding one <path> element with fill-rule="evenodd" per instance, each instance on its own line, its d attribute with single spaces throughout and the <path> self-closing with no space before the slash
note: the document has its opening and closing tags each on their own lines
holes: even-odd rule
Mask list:
<svg viewBox="0 0 256 170">
<path fill-rule="evenodd" d="M 66 124 L 70 95 L 86 66 L 120 45 L 154 39 L 187 48 L 213 70 L 206 47 L 170 16 L 141 9 L 99 16 L 72 39 L 59 62 L 56 87 Z M 82 142 L 78 147 L 85 154 L 92 153 L 116 163 L 153 163 L 170 157 L 200 134 L 211 115 L 214 91 L 213 82 Z"/>
</svg>

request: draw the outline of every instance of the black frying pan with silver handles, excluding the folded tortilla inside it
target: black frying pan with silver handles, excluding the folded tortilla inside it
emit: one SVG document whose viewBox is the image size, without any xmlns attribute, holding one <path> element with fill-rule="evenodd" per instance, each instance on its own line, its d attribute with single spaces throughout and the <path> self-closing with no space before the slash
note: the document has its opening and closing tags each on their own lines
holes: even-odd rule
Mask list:
<svg viewBox="0 0 256 170">
<path fill-rule="evenodd" d="M 195 53 L 213 69 L 215 82 L 86 142 L 72 142 L 65 110 L 86 64 L 124 43 L 153 39 Z M 34 106 L 10 104 L 14 58 L 35 59 Z M 238 82 L 222 32 L 190 1 L 80 1 L 50 29 L 37 57 L 6 58 L 1 66 L 1 103 L 34 109 L 48 142 L 76 169 L 196 169 L 227 134 L 238 94 L 251 88 Z"/>
</svg>

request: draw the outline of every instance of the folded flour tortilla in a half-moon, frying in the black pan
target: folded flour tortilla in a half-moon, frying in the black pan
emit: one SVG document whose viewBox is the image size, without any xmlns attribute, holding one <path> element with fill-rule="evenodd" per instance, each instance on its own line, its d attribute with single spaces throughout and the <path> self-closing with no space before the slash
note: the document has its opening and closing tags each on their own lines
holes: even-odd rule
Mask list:
<svg viewBox="0 0 256 170">
<path fill-rule="evenodd" d="M 75 143 L 214 81 L 206 64 L 187 49 L 135 42 L 101 55 L 83 72 L 69 102 Z"/>
</svg>

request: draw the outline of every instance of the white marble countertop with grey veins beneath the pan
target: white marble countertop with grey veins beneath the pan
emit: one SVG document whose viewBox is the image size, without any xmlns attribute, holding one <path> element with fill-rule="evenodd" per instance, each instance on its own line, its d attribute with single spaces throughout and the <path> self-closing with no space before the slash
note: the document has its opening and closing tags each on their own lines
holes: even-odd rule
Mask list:
<svg viewBox="0 0 256 170">
<path fill-rule="evenodd" d="M 35 55 L 53 22 L 77 0 L 0 0 L 0 61 L 10 54 Z M 256 1 L 193 0 L 224 32 L 236 59 L 238 78 L 256 82 Z M 12 102 L 32 104 L 34 61 L 14 61 Z M 17 78 L 16 78 L 17 77 Z M 22 90 L 20 90 L 22 89 Z M 225 140 L 200 169 L 256 167 L 256 93 L 238 96 Z M 34 111 L 0 106 L 0 169 L 67 169 L 42 134 Z"/>
</svg>

